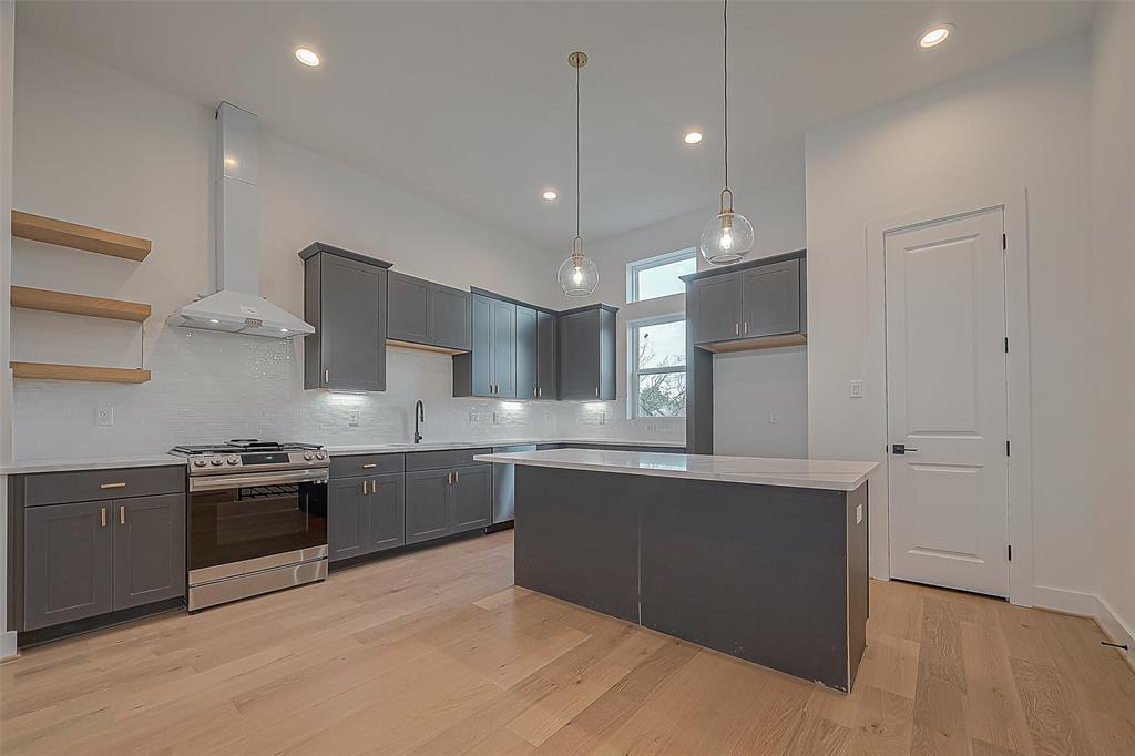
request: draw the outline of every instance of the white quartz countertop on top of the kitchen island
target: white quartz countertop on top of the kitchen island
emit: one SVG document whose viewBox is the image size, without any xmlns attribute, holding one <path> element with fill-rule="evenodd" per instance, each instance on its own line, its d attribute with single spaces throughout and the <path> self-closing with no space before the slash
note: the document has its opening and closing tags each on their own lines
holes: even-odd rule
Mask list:
<svg viewBox="0 0 1135 756">
<path fill-rule="evenodd" d="M 670 454 L 607 452 L 603 450 L 560 448 L 546 452 L 479 454 L 479 462 L 521 464 L 563 470 L 616 472 L 632 476 L 686 478 L 790 486 L 826 490 L 855 490 L 867 480 L 875 462 L 835 462 L 829 460 L 781 460 L 757 456 L 717 456 L 711 454 Z"/>
</svg>

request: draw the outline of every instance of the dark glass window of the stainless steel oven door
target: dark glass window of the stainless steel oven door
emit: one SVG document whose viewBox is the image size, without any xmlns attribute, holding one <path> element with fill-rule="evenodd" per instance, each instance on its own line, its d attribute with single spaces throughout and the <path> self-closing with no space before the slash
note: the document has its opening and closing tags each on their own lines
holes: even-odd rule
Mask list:
<svg viewBox="0 0 1135 756">
<path fill-rule="evenodd" d="M 326 484 L 222 488 L 190 496 L 191 570 L 326 544 Z"/>
</svg>

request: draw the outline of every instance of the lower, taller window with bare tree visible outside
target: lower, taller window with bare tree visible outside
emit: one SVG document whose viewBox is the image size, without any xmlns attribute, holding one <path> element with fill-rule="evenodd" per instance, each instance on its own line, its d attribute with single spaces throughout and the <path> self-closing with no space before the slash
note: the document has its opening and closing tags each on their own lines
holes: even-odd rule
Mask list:
<svg viewBox="0 0 1135 756">
<path fill-rule="evenodd" d="M 639 320 L 629 331 L 631 417 L 684 417 L 686 320 L 682 316 Z"/>
</svg>

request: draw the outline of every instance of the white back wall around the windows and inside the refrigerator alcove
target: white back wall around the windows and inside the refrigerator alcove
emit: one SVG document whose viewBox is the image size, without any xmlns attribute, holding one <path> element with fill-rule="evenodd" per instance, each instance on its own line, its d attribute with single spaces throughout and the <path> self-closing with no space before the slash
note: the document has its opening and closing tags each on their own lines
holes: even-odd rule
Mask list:
<svg viewBox="0 0 1135 756">
<path fill-rule="evenodd" d="M 745 170 L 746 167 L 734 170 Z M 749 259 L 779 254 L 805 246 L 804 180 L 775 186 L 739 198 L 738 212 L 754 226 L 756 243 Z M 569 405 L 562 419 L 566 436 L 620 436 L 681 440 L 686 435 L 684 419 L 627 420 L 627 326 L 634 320 L 686 311 L 686 296 L 675 294 L 646 302 L 627 302 L 627 263 L 665 252 L 696 247 L 701 227 L 716 213 L 716 205 L 688 212 L 637 230 L 589 244 L 587 254 L 599 268 L 599 288 L 594 301 L 620 308 L 619 321 L 619 400 Z M 564 255 L 566 257 L 566 247 Z M 698 260 L 699 269 L 708 267 Z M 715 380 L 715 428 L 722 453 L 771 456 L 804 455 L 807 452 L 806 397 L 807 355 L 804 350 L 781 353 L 751 353 L 730 358 L 726 383 Z M 800 383 L 785 384 L 785 372 Z M 747 386 L 746 401 L 733 404 L 737 388 Z M 726 404 L 729 403 L 729 404 Z M 768 406 L 781 408 L 779 425 L 768 423 Z M 600 425 L 600 421 L 603 425 Z M 717 425 L 720 423 L 720 426 Z"/>
</svg>

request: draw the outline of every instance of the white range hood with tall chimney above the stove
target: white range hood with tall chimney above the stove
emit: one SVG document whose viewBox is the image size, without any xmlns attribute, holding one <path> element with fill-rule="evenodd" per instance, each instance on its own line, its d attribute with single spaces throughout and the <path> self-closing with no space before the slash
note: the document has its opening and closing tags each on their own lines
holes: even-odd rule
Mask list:
<svg viewBox="0 0 1135 756">
<path fill-rule="evenodd" d="M 186 304 L 169 316 L 168 322 L 270 338 L 314 333 L 313 327 L 260 296 L 257 117 L 228 102 L 217 109 L 216 176 L 216 293 Z"/>
</svg>

